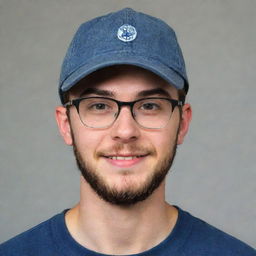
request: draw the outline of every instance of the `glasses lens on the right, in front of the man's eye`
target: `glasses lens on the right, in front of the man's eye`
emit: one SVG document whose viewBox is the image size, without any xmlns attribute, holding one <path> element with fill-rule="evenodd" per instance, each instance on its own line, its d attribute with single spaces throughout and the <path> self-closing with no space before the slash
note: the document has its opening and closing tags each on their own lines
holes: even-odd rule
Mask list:
<svg viewBox="0 0 256 256">
<path fill-rule="evenodd" d="M 137 123 L 145 128 L 159 129 L 167 125 L 172 104 L 167 99 L 142 99 L 133 108 Z"/>
</svg>

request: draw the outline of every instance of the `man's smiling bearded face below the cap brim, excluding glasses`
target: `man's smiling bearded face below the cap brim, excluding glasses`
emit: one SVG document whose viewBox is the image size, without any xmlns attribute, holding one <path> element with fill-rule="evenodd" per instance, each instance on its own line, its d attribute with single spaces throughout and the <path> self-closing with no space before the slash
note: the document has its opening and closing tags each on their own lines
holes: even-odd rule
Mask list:
<svg viewBox="0 0 256 256">
<path fill-rule="evenodd" d="M 149 94 L 153 89 L 160 90 Z M 110 72 L 100 79 L 98 76 L 84 81 L 71 92 L 71 98 L 107 96 L 134 101 L 142 94 L 178 99 L 174 87 L 135 67 L 119 68 L 118 72 Z M 83 177 L 101 198 L 117 205 L 135 204 L 153 193 L 162 184 L 171 167 L 177 143 L 183 139 L 179 138 L 178 107 L 161 129 L 140 127 L 129 106 L 122 107 L 117 120 L 109 128 L 84 126 L 75 107 L 70 108 L 69 122 L 69 144 L 73 145 Z"/>
</svg>

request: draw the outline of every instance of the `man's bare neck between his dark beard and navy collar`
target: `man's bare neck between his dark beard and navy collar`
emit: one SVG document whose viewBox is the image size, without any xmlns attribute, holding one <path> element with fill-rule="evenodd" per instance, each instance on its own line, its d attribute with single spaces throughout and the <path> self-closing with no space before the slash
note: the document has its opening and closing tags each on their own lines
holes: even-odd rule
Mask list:
<svg viewBox="0 0 256 256">
<path fill-rule="evenodd" d="M 103 254 L 136 254 L 163 241 L 177 220 L 164 200 L 164 183 L 146 200 L 116 206 L 99 198 L 81 179 L 81 200 L 67 212 L 67 227 L 86 248 Z"/>
</svg>

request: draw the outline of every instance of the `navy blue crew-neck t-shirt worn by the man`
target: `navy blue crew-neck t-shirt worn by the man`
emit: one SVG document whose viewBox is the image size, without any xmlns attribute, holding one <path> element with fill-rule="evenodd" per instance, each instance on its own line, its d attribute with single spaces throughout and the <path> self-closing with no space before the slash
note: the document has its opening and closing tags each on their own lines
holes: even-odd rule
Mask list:
<svg viewBox="0 0 256 256">
<path fill-rule="evenodd" d="M 169 236 L 133 256 L 256 256 L 256 251 L 245 243 L 178 210 L 177 223 Z M 0 245 L 0 255 L 104 256 L 72 238 L 65 224 L 65 211 Z"/>
</svg>

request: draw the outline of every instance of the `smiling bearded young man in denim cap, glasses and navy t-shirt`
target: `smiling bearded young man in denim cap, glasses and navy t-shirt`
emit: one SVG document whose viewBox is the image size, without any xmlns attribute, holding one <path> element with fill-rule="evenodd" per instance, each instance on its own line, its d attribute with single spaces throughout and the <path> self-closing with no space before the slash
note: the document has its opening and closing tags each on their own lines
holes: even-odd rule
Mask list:
<svg viewBox="0 0 256 256">
<path fill-rule="evenodd" d="M 256 255 L 165 202 L 165 177 L 191 121 L 187 91 L 181 50 L 163 21 L 127 8 L 82 24 L 56 108 L 81 171 L 80 201 L 2 244 L 0 255 Z"/>
</svg>

